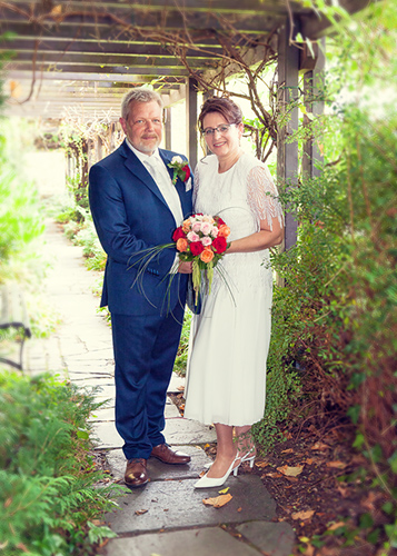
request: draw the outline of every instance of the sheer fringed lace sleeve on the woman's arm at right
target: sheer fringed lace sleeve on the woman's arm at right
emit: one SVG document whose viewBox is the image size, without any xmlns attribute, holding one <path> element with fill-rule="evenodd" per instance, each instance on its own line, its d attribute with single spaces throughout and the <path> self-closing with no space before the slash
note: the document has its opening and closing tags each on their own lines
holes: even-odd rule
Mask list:
<svg viewBox="0 0 397 556">
<path fill-rule="evenodd" d="M 248 173 L 248 205 L 258 220 L 266 220 L 272 230 L 272 219 L 278 218 L 284 227 L 282 207 L 278 191 L 267 167 L 256 166 Z"/>
</svg>

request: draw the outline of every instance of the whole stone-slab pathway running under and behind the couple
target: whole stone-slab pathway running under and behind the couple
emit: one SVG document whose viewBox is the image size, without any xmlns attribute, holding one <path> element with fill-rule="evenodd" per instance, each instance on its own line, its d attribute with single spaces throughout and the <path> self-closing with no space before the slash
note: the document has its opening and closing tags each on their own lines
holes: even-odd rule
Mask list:
<svg viewBox="0 0 397 556">
<path fill-rule="evenodd" d="M 99 387 L 98 399 L 107 399 L 96 413 L 96 449 L 106 450 L 116 478 L 122 478 L 125 458 L 113 420 L 113 359 L 111 331 L 97 312 L 99 300 L 92 286 L 100 276 L 85 268 L 82 250 L 72 246 L 60 228 L 48 221 L 46 251 L 53 261 L 44 284 L 48 302 L 61 322 L 48 339 L 26 345 L 26 367 L 31 374 L 51 371 L 81 387 Z M 169 393 L 179 391 L 183 380 L 172 377 Z M 183 419 L 168 399 L 166 438 L 171 446 L 191 455 L 191 464 L 167 466 L 149 459 L 150 481 L 121 497 L 119 507 L 106 516 L 119 535 L 102 548 L 106 556 L 288 556 L 294 532 L 271 519 L 276 504 L 258 476 L 229 477 L 225 487 L 232 499 L 221 508 L 206 506 L 202 498 L 218 496 L 218 488 L 195 490 L 192 485 L 209 460 L 202 446 L 215 441 L 212 427 Z M 225 488 L 221 487 L 221 488 Z M 231 525 L 234 534 L 222 528 Z M 230 528 L 229 528 L 230 530 Z M 237 532 L 237 533 L 236 533 Z"/>
</svg>

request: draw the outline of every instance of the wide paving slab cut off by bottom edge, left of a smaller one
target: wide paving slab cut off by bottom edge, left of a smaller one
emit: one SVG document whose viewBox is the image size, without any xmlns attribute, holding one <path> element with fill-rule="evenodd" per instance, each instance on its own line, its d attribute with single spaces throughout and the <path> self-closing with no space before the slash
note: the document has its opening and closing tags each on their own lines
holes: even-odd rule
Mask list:
<svg viewBox="0 0 397 556">
<path fill-rule="evenodd" d="M 139 535 L 132 538 L 115 538 L 99 554 L 106 556 L 259 556 L 260 553 L 220 527 L 206 527 Z"/>
</svg>

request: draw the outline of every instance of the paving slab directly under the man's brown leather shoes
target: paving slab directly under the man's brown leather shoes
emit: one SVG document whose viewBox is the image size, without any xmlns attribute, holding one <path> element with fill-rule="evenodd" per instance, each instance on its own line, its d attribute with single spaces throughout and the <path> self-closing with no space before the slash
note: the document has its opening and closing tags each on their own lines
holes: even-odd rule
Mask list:
<svg viewBox="0 0 397 556">
<path fill-rule="evenodd" d="M 171 446 L 172 448 L 172 446 Z M 191 457 L 191 461 L 186 465 L 167 465 L 162 464 L 155 457 L 148 459 L 148 473 L 151 481 L 169 479 L 196 479 L 198 480 L 200 473 L 205 469 L 205 465 L 211 461 L 206 453 L 198 446 L 178 446 L 179 451 L 183 451 Z M 123 479 L 126 471 L 126 457 L 121 449 L 109 450 L 106 454 L 106 459 L 109 464 L 109 469 L 113 477 L 119 480 Z"/>
</svg>

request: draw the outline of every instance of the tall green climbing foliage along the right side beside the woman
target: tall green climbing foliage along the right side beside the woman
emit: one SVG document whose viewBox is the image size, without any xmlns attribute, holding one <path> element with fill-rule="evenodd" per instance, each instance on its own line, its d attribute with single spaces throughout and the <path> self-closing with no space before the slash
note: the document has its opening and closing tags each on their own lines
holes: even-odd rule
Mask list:
<svg viewBox="0 0 397 556">
<path fill-rule="evenodd" d="M 360 473 L 370 470 L 387 502 L 383 523 L 364 514 L 333 534 L 345 546 L 365 538 L 385 556 L 396 547 L 397 512 L 397 91 L 380 92 L 396 83 L 396 17 L 391 2 L 378 2 L 363 20 L 345 14 L 338 22 L 344 34 L 329 40 L 327 82 L 339 97 L 309 126 L 322 172 L 294 188 L 279 185 L 299 228 L 296 246 L 271 257 L 269 395 L 256 426 L 269 445 L 284 423 L 345 425 L 368 461 Z"/>
</svg>

